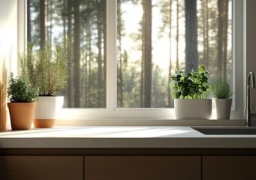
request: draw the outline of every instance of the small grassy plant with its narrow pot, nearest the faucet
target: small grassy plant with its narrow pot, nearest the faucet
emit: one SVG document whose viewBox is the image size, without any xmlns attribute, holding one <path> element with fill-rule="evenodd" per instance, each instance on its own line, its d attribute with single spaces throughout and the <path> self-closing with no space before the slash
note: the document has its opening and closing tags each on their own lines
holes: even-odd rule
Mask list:
<svg viewBox="0 0 256 180">
<path fill-rule="evenodd" d="M 229 99 L 233 94 L 230 92 L 230 86 L 227 80 L 218 77 L 215 83 L 210 86 L 210 92 L 215 98 L 216 118 L 229 119 L 232 107 L 232 99 Z"/>
</svg>

